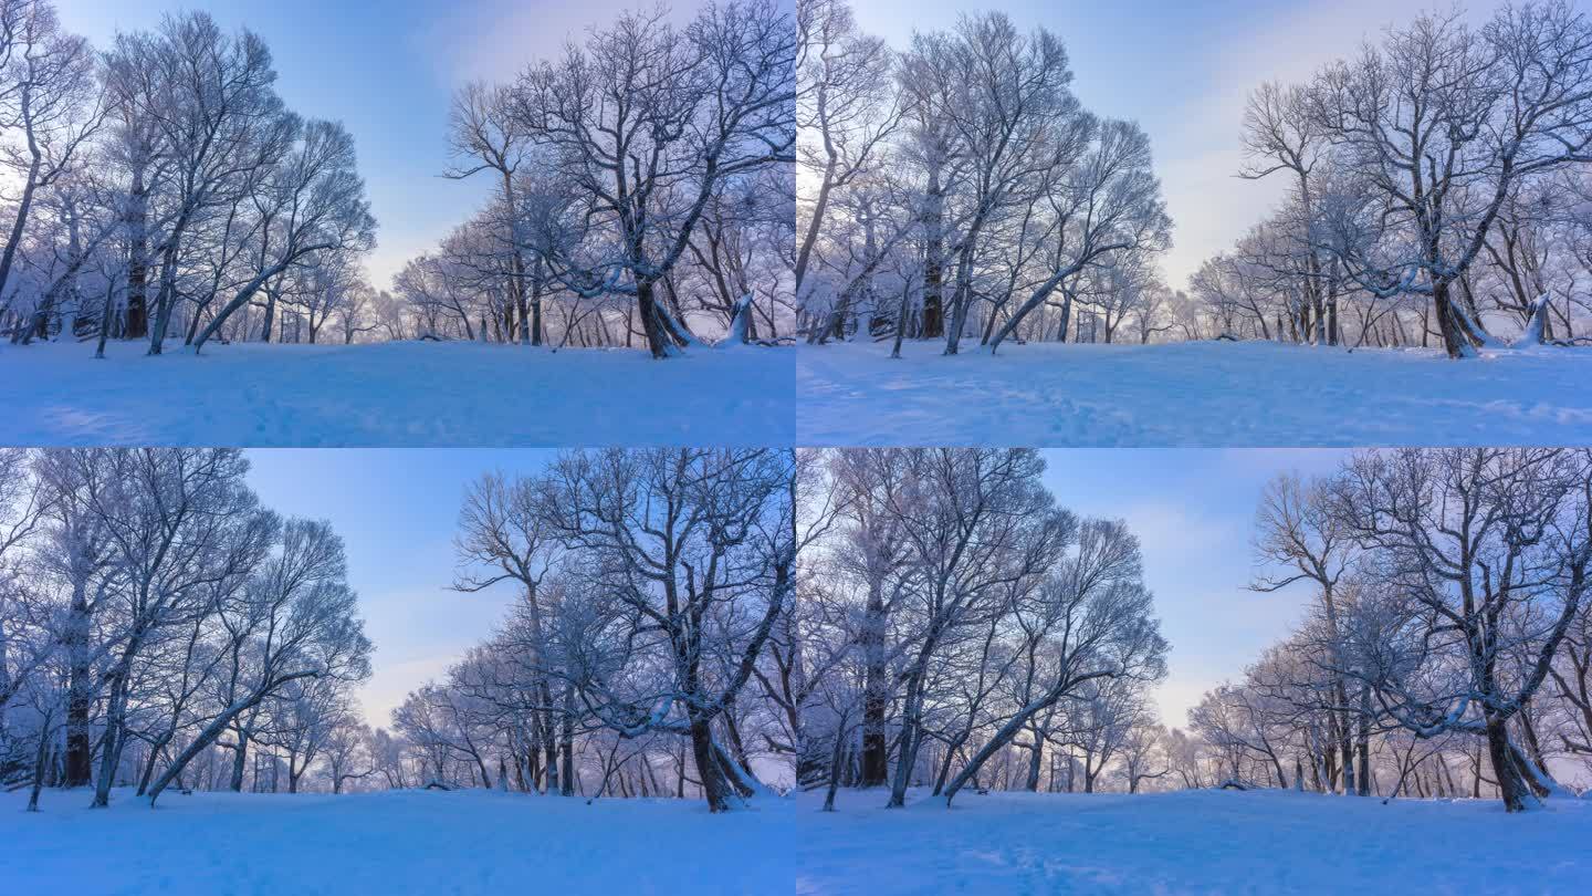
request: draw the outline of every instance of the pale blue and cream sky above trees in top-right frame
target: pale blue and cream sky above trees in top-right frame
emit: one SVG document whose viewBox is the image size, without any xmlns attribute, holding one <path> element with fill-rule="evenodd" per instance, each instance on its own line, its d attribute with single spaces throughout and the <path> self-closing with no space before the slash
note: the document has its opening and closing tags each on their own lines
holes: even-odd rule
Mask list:
<svg viewBox="0 0 1592 896">
<path fill-rule="evenodd" d="M 1073 92 L 1097 115 L 1137 120 L 1149 134 L 1173 220 L 1167 284 L 1183 289 L 1202 260 L 1227 249 L 1283 190 L 1234 177 L 1243 161 L 1248 92 L 1301 81 L 1352 56 L 1390 24 L 1449 0 L 852 0 L 858 24 L 895 48 L 912 30 L 955 24 L 962 11 L 1000 10 L 1024 32 L 1043 26 L 1067 46 Z M 1496 6 L 1465 3 L 1471 16 Z"/>
</svg>

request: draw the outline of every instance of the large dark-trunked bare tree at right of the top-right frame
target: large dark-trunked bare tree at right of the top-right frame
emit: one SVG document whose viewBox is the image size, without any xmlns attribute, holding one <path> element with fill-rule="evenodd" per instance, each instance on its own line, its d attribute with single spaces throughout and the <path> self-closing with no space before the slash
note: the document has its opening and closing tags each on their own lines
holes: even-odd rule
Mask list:
<svg viewBox="0 0 1592 896">
<path fill-rule="evenodd" d="M 1565 0 L 1471 29 L 1428 13 L 1328 67 L 1310 118 L 1375 198 L 1379 239 L 1340 253 L 1361 289 L 1430 297 L 1449 357 L 1485 341 L 1452 290 L 1525 179 L 1592 161 L 1592 24 Z"/>
</svg>

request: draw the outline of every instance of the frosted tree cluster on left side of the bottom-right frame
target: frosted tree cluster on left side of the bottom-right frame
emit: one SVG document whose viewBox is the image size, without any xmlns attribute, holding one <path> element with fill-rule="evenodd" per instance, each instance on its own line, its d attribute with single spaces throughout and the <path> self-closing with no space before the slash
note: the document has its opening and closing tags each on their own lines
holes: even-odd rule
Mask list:
<svg viewBox="0 0 1592 896">
<path fill-rule="evenodd" d="M 1033 450 L 815 451 L 798 781 L 1094 792 L 1151 773 L 1167 641 L 1121 520 L 1057 505 Z M 1129 748 L 1129 740 L 1134 746 Z"/>
</svg>

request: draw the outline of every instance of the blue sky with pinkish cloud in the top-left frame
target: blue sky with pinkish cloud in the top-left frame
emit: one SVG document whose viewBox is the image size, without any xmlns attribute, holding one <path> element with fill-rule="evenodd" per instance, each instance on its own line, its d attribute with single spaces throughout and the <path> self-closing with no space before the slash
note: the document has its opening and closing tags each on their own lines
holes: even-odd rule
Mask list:
<svg viewBox="0 0 1592 896">
<path fill-rule="evenodd" d="M 562 53 L 638 0 L 56 0 L 62 26 L 108 48 L 118 30 L 153 29 L 167 13 L 204 10 L 228 32 L 271 46 L 290 108 L 341 120 L 353 134 L 379 223 L 371 284 L 427 252 L 481 206 L 486 175 L 439 177 L 449 164 L 447 108 L 471 80 L 508 81 Z M 697 6 L 672 3 L 675 16 Z M 646 2 L 645 8 L 651 8 Z"/>
</svg>

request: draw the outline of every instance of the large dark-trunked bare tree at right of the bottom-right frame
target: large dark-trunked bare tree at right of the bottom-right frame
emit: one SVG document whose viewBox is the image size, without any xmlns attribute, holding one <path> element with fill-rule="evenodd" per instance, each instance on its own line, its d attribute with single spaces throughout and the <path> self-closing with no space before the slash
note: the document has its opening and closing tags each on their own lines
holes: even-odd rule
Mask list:
<svg viewBox="0 0 1592 896">
<path fill-rule="evenodd" d="M 1334 485 L 1334 517 L 1390 585 L 1360 611 L 1383 633 L 1361 678 L 1417 738 L 1485 737 L 1509 812 L 1552 789 L 1508 725 L 1586 598 L 1589 464 L 1581 450 L 1401 450 L 1356 456 Z"/>
</svg>

